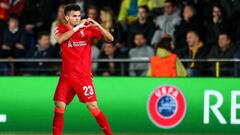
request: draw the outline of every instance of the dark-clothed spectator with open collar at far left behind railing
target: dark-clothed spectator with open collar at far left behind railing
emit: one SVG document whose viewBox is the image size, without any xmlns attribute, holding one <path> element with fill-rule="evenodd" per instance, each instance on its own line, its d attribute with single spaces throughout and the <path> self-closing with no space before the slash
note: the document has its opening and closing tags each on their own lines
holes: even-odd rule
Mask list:
<svg viewBox="0 0 240 135">
<path fill-rule="evenodd" d="M 8 27 L 3 30 L 0 43 L 1 58 L 10 60 L 12 58 L 23 58 L 25 56 L 28 49 L 26 45 L 26 34 L 19 26 L 19 20 L 16 15 L 9 17 Z M 4 67 L 5 72 L 3 74 L 5 75 L 19 75 L 20 69 L 23 68 L 23 64 L 21 63 L 2 63 L 1 65 Z M 14 71 L 12 70 L 13 66 Z"/>
</svg>

